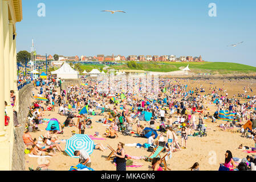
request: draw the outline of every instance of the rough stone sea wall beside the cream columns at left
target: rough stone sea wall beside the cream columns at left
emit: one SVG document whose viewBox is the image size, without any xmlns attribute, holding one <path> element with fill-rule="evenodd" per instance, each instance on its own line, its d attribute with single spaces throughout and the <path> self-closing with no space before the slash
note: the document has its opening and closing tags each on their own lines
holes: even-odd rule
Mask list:
<svg viewBox="0 0 256 182">
<path fill-rule="evenodd" d="M 13 146 L 13 171 L 23 171 L 25 170 L 25 145 L 23 143 L 22 135 L 24 131 L 24 126 L 27 119 L 27 114 L 29 113 L 29 106 L 32 103 L 31 90 L 33 88 L 32 84 L 24 86 L 19 90 L 19 112 L 18 112 L 18 122 L 23 127 L 15 127 L 14 130 L 14 146 Z"/>
</svg>

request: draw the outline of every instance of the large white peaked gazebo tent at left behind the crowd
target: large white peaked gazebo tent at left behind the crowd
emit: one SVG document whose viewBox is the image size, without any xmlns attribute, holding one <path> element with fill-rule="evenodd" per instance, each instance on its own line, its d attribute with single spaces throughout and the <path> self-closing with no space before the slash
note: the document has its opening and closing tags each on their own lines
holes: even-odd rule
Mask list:
<svg viewBox="0 0 256 182">
<path fill-rule="evenodd" d="M 62 79 L 77 79 L 77 78 L 79 78 L 79 72 L 75 71 L 67 63 L 64 63 L 62 65 L 62 67 L 60 67 L 56 71 L 51 72 L 51 74 L 57 75 L 58 78 L 62 78 Z"/>
</svg>

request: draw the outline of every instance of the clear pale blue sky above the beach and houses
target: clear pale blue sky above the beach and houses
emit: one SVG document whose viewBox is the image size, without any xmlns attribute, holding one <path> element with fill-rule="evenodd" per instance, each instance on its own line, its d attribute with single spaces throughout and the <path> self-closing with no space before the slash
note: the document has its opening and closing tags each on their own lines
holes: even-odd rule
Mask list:
<svg viewBox="0 0 256 182">
<path fill-rule="evenodd" d="M 46 5 L 45 17 L 38 16 L 38 3 Z M 216 3 L 217 17 L 208 15 L 209 3 Z M 30 51 L 34 38 L 41 55 L 201 55 L 205 61 L 256 67 L 255 0 L 23 0 L 22 4 L 17 51 Z"/>
</svg>

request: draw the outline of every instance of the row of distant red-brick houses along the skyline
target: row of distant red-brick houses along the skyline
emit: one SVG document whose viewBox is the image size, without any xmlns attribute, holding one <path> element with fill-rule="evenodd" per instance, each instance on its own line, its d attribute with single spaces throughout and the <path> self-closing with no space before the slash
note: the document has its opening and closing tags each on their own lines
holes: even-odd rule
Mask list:
<svg viewBox="0 0 256 182">
<path fill-rule="evenodd" d="M 36 55 L 37 60 L 46 60 L 45 56 Z M 48 60 L 53 59 L 51 55 L 47 57 Z M 117 56 L 104 56 L 104 55 L 97 55 L 97 56 L 62 56 L 59 55 L 59 61 L 172 61 L 172 62 L 202 62 L 202 56 L 193 57 L 193 56 L 180 56 L 176 57 L 174 55 L 164 55 L 164 56 L 157 56 L 157 55 L 129 55 L 127 57 L 117 55 Z"/>
</svg>

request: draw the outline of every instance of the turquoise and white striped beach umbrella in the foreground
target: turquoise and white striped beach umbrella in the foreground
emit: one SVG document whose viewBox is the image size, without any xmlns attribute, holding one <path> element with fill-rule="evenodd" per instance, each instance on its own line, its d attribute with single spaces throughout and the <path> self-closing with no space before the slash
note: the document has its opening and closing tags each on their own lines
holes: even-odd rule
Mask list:
<svg viewBox="0 0 256 182">
<path fill-rule="evenodd" d="M 88 155 L 91 155 L 94 150 L 94 141 L 88 135 L 75 134 L 70 139 L 67 139 L 65 152 L 71 158 L 79 158 L 79 156 L 74 156 L 74 151 L 76 150 L 85 150 Z"/>
</svg>

